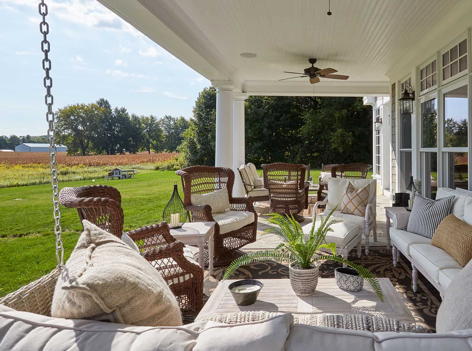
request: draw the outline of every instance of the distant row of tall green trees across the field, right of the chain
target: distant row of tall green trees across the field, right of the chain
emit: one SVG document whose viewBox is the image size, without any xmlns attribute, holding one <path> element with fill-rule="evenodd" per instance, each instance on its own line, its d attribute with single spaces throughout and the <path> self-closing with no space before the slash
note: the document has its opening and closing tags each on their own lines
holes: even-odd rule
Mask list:
<svg viewBox="0 0 472 351">
<path fill-rule="evenodd" d="M 173 152 L 182 142 L 189 122 L 183 117 L 129 114 L 104 98 L 75 104 L 56 112 L 56 135 L 69 155 L 136 154 L 140 151 Z"/>
</svg>

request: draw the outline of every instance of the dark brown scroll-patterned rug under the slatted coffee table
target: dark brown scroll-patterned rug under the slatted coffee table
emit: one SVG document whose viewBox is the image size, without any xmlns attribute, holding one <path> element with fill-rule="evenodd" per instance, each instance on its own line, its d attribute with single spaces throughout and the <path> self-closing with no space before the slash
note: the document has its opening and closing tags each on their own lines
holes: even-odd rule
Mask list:
<svg viewBox="0 0 472 351">
<path fill-rule="evenodd" d="M 389 278 L 398 294 L 410 309 L 416 323 L 436 330 L 436 314 L 441 303 L 438 291 L 420 274 L 418 293 L 413 292 L 412 267 L 409 261 L 402 259 L 397 267 L 393 266 L 392 253 L 386 247 L 371 247 L 369 256 L 358 258 L 356 249 L 351 251 L 349 259 L 371 270 L 377 277 Z M 320 265 L 320 278 L 334 278 L 334 269 L 339 265 L 334 261 L 325 261 Z M 204 279 L 204 301 L 216 288 L 226 267 L 214 269 L 214 276 L 208 271 Z M 278 262 L 258 262 L 239 268 L 232 279 L 288 279 L 288 266 Z"/>
</svg>

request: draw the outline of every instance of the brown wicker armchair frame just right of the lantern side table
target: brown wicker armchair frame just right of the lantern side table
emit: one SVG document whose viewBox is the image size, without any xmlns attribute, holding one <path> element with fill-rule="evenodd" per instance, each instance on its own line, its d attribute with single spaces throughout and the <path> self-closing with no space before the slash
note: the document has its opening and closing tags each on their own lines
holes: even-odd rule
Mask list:
<svg viewBox="0 0 472 351">
<path fill-rule="evenodd" d="M 227 167 L 191 166 L 179 171 L 176 174 L 182 177 L 182 187 L 184 189 L 184 206 L 191 213 L 192 222 L 215 222 L 214 238 L 214 265 L 227 265 L 237 257 L 244 254 L 240 248 L 246 244 L 256 241 L 257 213 L 254 211 L 253 198 L 233 197 L 233 185 L 235 181 L 234 172 Z M 211 213 L 211 206 L 193 205 L 191 196 L 207 194 L 213 191 L 227 188 L 229 196 L 230 211 L 218 214 Z M 223 215 L 234 214 L 237 217 L 238 211 L 252 212 L 254 220 L 249 224 L 244 224 L 241 228 L 225 232 L 220 229 Z M 213 216 L 215 215 L 214 218 Z M 250 216 L 252 217 L 252 216 Z M 241 220 L 244 222 L 244 220 Z M 208 245 L 208 243 L 207 243 Z M 207 251 L 208 252 L 208 251 Z M 208 257 L 205 257 L 208 263 Z"/>
</svg>

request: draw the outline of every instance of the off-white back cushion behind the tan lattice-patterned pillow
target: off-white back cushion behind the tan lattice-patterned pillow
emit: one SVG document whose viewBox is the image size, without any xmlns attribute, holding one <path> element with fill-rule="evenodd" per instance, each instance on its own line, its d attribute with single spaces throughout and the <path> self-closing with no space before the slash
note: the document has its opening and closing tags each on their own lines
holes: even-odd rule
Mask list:
<svg viewBox="0 0 472 351">
<path fill-rule="evenodd" d="M 339 205 L 338 210 L 341 210 L 344 194 L 346 188 L 351 183 L 355 189 L 360 189 L 369 185 L 369 203 L 375 204 L 375 195 L 377 191 L 377 180 L 375 179 L 349 179 L 349 178 L 329 178 L 328 179 L 328 196 L 326 209 L 332 210 Z"/>
</svg>

